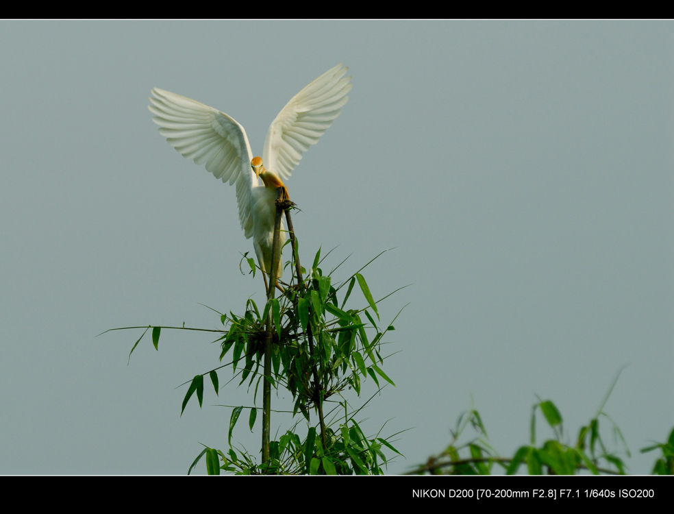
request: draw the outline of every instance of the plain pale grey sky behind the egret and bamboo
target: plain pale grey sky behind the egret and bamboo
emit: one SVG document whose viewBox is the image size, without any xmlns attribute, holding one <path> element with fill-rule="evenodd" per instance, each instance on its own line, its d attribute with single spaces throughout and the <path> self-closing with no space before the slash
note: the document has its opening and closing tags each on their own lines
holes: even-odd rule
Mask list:
<svg viewBox="0 0 674 514">
<path fill-rule="evenodd" d="M 164 331 L 129 366 L 140 332 L 95 337 L 216 328 L 199 303 L 263 302 L 238 269 L 252 245 L 234 189 L 166 143 L 147 97 L 227 112 L 260 154 L 286 101 L 339 62 L 351 99 L 288 186 L 305 260 L 338 245 L 347 273 L 396 247 L 365 276 L 376 297 L 412 284 L 379 308 L 410 304 L 386 347 L 397 388 L 363 412 L 368 433 L 413 428 L 389 472 L 445 448 L 471 397 L 504 456 L 536 394 L 573 441 L 625 365 L 606 412 L 631 471 L 650 472 L 638 450 L 674 425 L 673 30 L 0 22 L 0 473 L 184 474 L 200 442 L 227 448 L 214 404 L 248 405 L 245 389 L 207 389 L 182 418 L 174 389 L 216 365 L 208 336 Z M 255 452 L 244 416 L 234 439 Z"/>
</svg>

